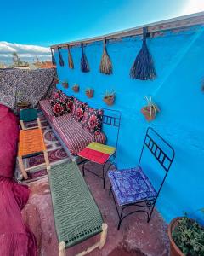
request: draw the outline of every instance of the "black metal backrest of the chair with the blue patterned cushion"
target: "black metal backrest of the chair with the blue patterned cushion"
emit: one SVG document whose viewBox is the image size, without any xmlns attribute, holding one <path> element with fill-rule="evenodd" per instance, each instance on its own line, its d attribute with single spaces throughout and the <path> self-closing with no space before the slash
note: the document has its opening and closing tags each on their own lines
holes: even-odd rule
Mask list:
<svg viewBox="0 0 204 256">
<path fill-rule="evenodd" d="M 163 146 L 167 148 L 167 150 L 163 150 L 157 140 L 163 143 Z M 159 195 L 161 187 L 167 177 L 167 172 L 169 171 L 170 167 L 172 166 L 173 159 L 175 156 L 175 151 L 173 147 L 167 143 L 153 128 L 149 127 L 146 131 L 146 135 L 144 137 L 143 148 L 139 157 L 139 166 L 140 162 L 144 153 L 144 148 L 148 148 L 150 153 L 156 158 L 156 160 L 161 165 L 162 169 L 165 171 L 165 175 L 162 179 L 161 186 L 158 189 L 157 195 Z"/>
</svg>

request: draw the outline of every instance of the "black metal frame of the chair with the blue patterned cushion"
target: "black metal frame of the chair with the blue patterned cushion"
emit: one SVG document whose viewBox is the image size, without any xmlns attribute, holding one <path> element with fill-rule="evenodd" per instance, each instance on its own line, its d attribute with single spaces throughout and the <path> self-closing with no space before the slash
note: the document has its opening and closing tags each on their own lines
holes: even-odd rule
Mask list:
<svg viewBox="0 0 204 256">
<path fill-rule="evenodd" d="M 169 156 L 167 155 L 159 146 L 158 144 L 156 143 L 156 141 L 150 137 L 150 131 L 153 131 L 153 133 L 159 137 L 161 139 L 161 141 L 163 143 L 165 143 L 167 145 L 167 147 L 171 150 L 172 152 L 172 155 Z M 141 151 L 141 154 L 140 154 L 140 157 L 139 157 L 139 166 L 140 166 L 140 162 L 141 162 L 141 159 L 142 159 L 142 156 L 143 156 L 143 152 L 144 152 L 144 147 L 148 148 L 150 150 L 150 153 L 153 154 L 156 158 L 156 160 L 160 163 L 162 169 L 164 169 L 164 171 L 166 172 L 162 181 L 161 181 L 161 185 L 160 185 L 160 188 L 158 189 L 157 193 L 156 193 L 156 196 L 155 197 L 151 197 L 151 198 L 147 198 L 145 200 L 142 200 L 142 201 L 136 201 L 134 203 L 130 203 L 130 204 L 127 204 L 127 205 L 124 205 L 124 206 L 117 206 L 117 202 L 116 202 L 116 197 L 112 191 L 112 187 L 110 185 L 110 190 L 109 190 L 109 195 L 113 196 L 113 201 L 115 203 L 115 206 L 116 206 L 116 212 L 117 212 L 117 215 L 118 215 L 118 218 L 119 218 L 119 222 L 118 222 L 118 225 L 117 225 L 117 230 L 120 230 L 120 227 L 121 227 L 121 224 L 122 224 L 122 220 L 124 218 L 127 218 L 127 216 L 129 215 L 132 215 L 133 213 L 136 213 L 136 212 L 145 212 L 147 214 L 147 222 L 149 223 L 150 222 L 150 218 L 151 218 L 151 215 L 152 215 L 152 212 L 154 211 L 154 208 L 155 208 L 155 205 L 156 205 L 156 200 L 160 194 L 160 191 L 161 191 L 161 188 L 163 186 L 163 183 L 165 182 L 165 179 L 167 177 L 167 173 L 170 169 L 170 167 L 172 166 L 172 163 L 173 163 L 173 159 L 174 159 L 174 155 L 175 155 L 175 152 L 174 152 L 174 149 L 173 147 L 167 143 L 167 141 L 165 141 L 153 128 L 149 127 L 146 131 L 146 135 L 144 137 L 144 143 L 143 143 L 143 148 L 142 148 L 142 151 Z M 165 166 L 165 160 L 168 161 L 168 165 Z M 139 207 L 139 210 L 135 210 L 133 212 L 127 212 L 127 214 L 124 213 L 124 211 L 128 208 L 128 207 Z M 120 208 L 121 211 L 120 211 Z"/>
</svg>

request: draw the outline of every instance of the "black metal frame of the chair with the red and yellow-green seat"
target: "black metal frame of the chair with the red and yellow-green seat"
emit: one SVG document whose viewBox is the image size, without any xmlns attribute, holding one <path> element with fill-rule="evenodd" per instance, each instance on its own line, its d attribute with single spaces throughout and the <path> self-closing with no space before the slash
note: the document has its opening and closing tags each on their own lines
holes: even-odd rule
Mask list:
<svg viewBox="0 0 204 256">
<path fill-rule="evenodd" d="M 114 154 L 111 155 L 111 157 L 105 161 L 105 163 L 102 165 L 102 176 L 100 176 L 98 173 L 91 171 L 90 169 L 88 169 L 87 167 L 85 167 L 85 165 L 88 162 L 92 162 L 90 160 L 87 159 L 83 159 L 80 163 L 78 163 L 78 165 L 82 164 L 82 174 L 83 176 L 85 176 L 85 171 L 91 172 L 93 173 L 95 176 L 102 178 L 103 179 L 103 184 L 104 184 L 104 189 L 105 189 L 105 177 L 107 172 L 109 171 L 110 167 L 112 165 L 117 165 L 117 145 L 118 145 L 118 138 L 119 138 L 119 131 L 120 131 L 120 126 L 121 126 L 121 113 L 118 110 L 115 109 L 109 109 L 109 108 L 99 108 L 99 109 L 103 109 L 105 110 L 105 112 L 112 112 L 112 113 L 117 113 L 117 116 L 112 116 L 111 114 L 103 114 L 103 119 L 102 119 L 102 124 L 103 125 L 111 125 L 117 128 L 117 133 L 116 133 L 116 150 L 114 152 Z M 101 165 L 100 165 L 101 166 Z"/>
</svg>

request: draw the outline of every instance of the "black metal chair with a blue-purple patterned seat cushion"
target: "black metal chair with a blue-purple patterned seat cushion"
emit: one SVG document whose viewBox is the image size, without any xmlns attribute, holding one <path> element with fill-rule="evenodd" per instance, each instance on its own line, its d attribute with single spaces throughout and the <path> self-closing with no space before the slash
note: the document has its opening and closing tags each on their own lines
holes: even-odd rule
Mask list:
<svg viewBox="0 0 204 256">
<path fill-rule="evenodd" d="M 152 135 L 154 135 L 154 138 Z M 162 142 L 167 150 L 163 150 L 155 140 Z M 150 179 L 144 174 L 140 163 L 144 153 L 144 148 L 148 148 L 164 171 L 159 189 L 155 189 L 150 183 Z M 111 181 L 110 193 L 113 195 L 113 201 L 116 205 L 116 212 L 119 218 L 117 229 L 120 229 L 122 220 L 135 212 L 145 212 L 147 222 L 149 223 L 151 214 L 156 205 L 156 200 L 160 194 L 161 188 L 167 173 L 172 166 L 174 159 L 174 149 L 167 143 L 155 130 L 148 128 L 144 138 L 143 148 L 139 157 L 139 165 L 135 168 L 109 171 L 108 176 Z M 129 207 L 137 207 L 132 212 L 127 212 Z M 121 210 L 120 210 L 121 209 Z"/>
</svg>

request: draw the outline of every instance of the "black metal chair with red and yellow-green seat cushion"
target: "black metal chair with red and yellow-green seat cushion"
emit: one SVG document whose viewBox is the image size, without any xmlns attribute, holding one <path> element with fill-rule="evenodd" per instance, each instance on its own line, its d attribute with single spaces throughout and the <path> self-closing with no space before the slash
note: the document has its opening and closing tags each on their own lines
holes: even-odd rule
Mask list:
<svg viewBox="0 0 204 256">
<path fill-rule="evenodd" d="M 116 161 L 117 161 L 116 151 L 117 151 L 117 144 L 118 144 L 118 138 L 119 138 L 120 125 L 121 125 L 121 113 L 117 110 L 112 110 L 108 108 L 100 108 L 100 109 L 104 110 L 103 120 L 102 120 L 103 126 L 111 125 L 116 128 L 116 145 L 113 147 L 112 145 L 110 146 L 110 145 L 104 145 L 100 143 L 90 143 L 86 148 L 84 148 L 81 152 L 78 153 L 78 156 L 82 157 L 82 161 L 79 163 L 79 165 L 82 164 L 83 176 L 85 176 L 85 171 L 92 172 L 97 177 L 103 179 L 104 189 L 105 189 L 106 174 L 113 164 L 116 166 Z M 102 166 L 102 176 L 100 176 L 96 172 L 93 172 L 92 170 L 89 170 L 85 166 L 85 164 L 88 162 L 95 162 L 100 166 Z"/>
</svg>

